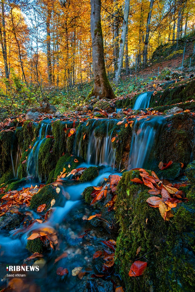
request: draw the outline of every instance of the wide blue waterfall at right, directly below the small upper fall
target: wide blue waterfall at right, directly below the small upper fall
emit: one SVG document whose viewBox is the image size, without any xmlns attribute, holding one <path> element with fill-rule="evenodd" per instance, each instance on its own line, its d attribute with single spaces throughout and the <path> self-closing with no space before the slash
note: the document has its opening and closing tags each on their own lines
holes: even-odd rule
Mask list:
<svg viewBox="0 0 195 292">
<path fill-rule="evenodd" d="M 150 167 L 153 161 L 156 144 L 161 133 L 161 127 L 168 116 L 148 116 L 146 119 L 136 121 L 133 128 L 130 149 L 129 168 Z"/>
</svg>

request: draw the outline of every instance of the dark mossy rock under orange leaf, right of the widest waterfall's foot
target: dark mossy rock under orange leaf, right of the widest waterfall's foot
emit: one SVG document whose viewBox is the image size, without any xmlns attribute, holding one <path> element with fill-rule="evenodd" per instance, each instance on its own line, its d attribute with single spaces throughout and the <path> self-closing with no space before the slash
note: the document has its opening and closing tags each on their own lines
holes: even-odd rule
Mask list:
<svg viewBox="0 0 195 292">
<path fill-rule="evenodd" d="M 156 168 L 155 173 L 159 179 L 167 178 L 173 180 L 181 173 L 181 163 L 173 162 L 168 168 L 163 170 Z"/>
</svg>

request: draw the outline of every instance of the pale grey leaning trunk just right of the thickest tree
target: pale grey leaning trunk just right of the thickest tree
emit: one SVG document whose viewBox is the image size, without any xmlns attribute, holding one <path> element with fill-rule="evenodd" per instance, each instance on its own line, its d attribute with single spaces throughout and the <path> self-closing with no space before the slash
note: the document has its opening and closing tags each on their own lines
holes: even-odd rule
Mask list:
<svg viewBox="0 0 195 292">
<path fill-rule="evenodd" d="M 119 55 L 118 55 L 118 60 L 117 60 L 117 70 L 116 70 L 115 78 L 114 78 L 114 83 L 116 85 L 118 85 L 119 83 L 121 69 L 122 69 L 122 61 L 123 61 L 123 56 L 124 56 L 125 39 L 126 39 L 128 17 L 129 17 L 129 3 L 130 3 L 130 0 L 125 0 L 124 20 L 122 24 L 120 48 L 119 48 Z"/>
</svg>

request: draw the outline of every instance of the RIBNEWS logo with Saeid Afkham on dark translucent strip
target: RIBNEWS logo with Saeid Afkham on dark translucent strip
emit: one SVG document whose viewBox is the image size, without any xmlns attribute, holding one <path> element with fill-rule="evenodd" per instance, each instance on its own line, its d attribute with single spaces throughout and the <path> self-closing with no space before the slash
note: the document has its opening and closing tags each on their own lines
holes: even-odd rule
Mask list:
<svg viewBox="0 0 195 292">
<path fill-rule="evenodd" d="M 46 278 L 47 265 L 36 264 L 33 265 L 16 265 L 16 264 L 3 264 L 0 263 L 0 275 L 4 278 Z"/>
</svg>

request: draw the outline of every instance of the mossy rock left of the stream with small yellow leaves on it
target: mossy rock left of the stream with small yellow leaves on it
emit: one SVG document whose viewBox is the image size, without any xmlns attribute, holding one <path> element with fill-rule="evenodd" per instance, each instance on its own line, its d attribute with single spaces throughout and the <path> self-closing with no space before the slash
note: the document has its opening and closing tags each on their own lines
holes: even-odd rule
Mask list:
<svg viewBox="0 0 195 292">
<path fill-rule="evenodd" d="M 58 194 L 56 192 L 56 187 L 53 189 L 52 185 L 46 185 L 37 194 L 32 196 L 30 208 L 37 210 L 38 206 L 46 204 L 45 210 L 49 210 L 49 208 L 51 208 L 51 200 L 53 199 L 56 201 L 55 206 L 64 206 L 65 197 L 62 194 L 62 190 L 60 190 Z"/>
</svg>

